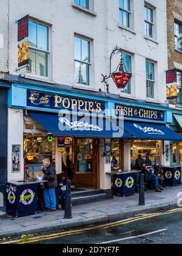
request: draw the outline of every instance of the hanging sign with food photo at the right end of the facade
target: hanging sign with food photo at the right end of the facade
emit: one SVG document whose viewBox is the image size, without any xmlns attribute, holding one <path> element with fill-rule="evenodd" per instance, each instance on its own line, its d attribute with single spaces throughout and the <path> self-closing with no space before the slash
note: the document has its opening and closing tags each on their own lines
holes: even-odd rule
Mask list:
<svg viewBox="0 0 182 256">
<path fill-rule="evenodd" d="M 167 99 L 178 98 L 177 69 L 166 71 L 166 96 Z"/>
</svg>

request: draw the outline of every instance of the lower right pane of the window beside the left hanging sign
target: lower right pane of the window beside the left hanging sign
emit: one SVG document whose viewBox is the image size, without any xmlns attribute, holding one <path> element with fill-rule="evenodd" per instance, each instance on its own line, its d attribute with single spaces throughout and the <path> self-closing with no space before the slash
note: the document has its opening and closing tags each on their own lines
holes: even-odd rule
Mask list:
<svg viewBox="0 0 182 256">
<path fill-rule="evenodd" d="M 47 76 L 47 53 L 37 51 L 36 74 L 38 76 Z"/>
</svg>

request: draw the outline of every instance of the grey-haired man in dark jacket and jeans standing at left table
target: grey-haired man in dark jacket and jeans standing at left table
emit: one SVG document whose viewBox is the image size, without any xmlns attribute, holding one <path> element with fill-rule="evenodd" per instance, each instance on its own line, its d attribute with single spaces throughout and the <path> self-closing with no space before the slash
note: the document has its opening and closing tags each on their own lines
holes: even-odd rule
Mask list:
<svg viewBox="0 0 182 256">
<path fill-rule="evenodd" d="M 44 183 L 43 191 L 45 211 L 52 212 L 56 210 L 56 169 L 55 166 L 50 163 L 49 158 L 45 158 L 41 170 L 44 173 L 42 180 L 47 180 L 47 182 Z"/>
</svg>

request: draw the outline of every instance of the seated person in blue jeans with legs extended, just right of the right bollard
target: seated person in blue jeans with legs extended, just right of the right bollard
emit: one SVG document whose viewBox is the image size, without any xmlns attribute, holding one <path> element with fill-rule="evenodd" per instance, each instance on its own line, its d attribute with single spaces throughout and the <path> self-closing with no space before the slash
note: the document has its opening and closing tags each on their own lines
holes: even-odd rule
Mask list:
<svg viewBox="0 0 182 256">
<path fill-rule="evenodd" d="M 159 188 L 159 178 L 152 173 L 152 170 L 146 165 L 146 162 L 141 164 L 141 173 L 144 174 L 147 182 L 155 181 L 155 192 L 162 192 Z"/>
</svg>

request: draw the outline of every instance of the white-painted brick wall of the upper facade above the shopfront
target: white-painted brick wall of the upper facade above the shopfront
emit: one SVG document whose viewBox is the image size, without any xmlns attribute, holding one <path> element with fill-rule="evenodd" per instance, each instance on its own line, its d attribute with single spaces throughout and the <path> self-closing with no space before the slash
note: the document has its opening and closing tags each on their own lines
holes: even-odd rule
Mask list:
<svg viewBox="0 0 182 256">
<path fill-rule="evenodd" d="M 2 0 L 0 0 L 2 1 Z M 167 69 L 166 0 L 149 0 L 155 9 L 155 26 L 158 43 L 144 38 L 144 0 L 131 0 L 133 27 L 136 34 L 118 27 L 119 0 L 93 0 L 96 17 L 72 7 L 73 0 L 10 0 L 10 73 L 17 74 L 16 20 L 28 13 L 52 24 L 51 79 L 59 84 L 74 85 L 74 33 L 92 38 L 91 87 L 102 88 L 101 74 L 109 73 L 109 55 L 117 44 L 133 54 L 132 96 L 146 99 L 146 58 L 157 62 L 156 100 L 165 102 Z M 5 1 L 3 1 L 5 2 Z M 21 4 L 22 2 L 22 4 Z M 0 10 L 1 12 L 1 10 Z M 1 25 L 0 25 L 1 26 Z M 116 66 L 118 59 L 113 60 Z M 112 80 L 110 92 L 120 94 Z"/>
</svg>

